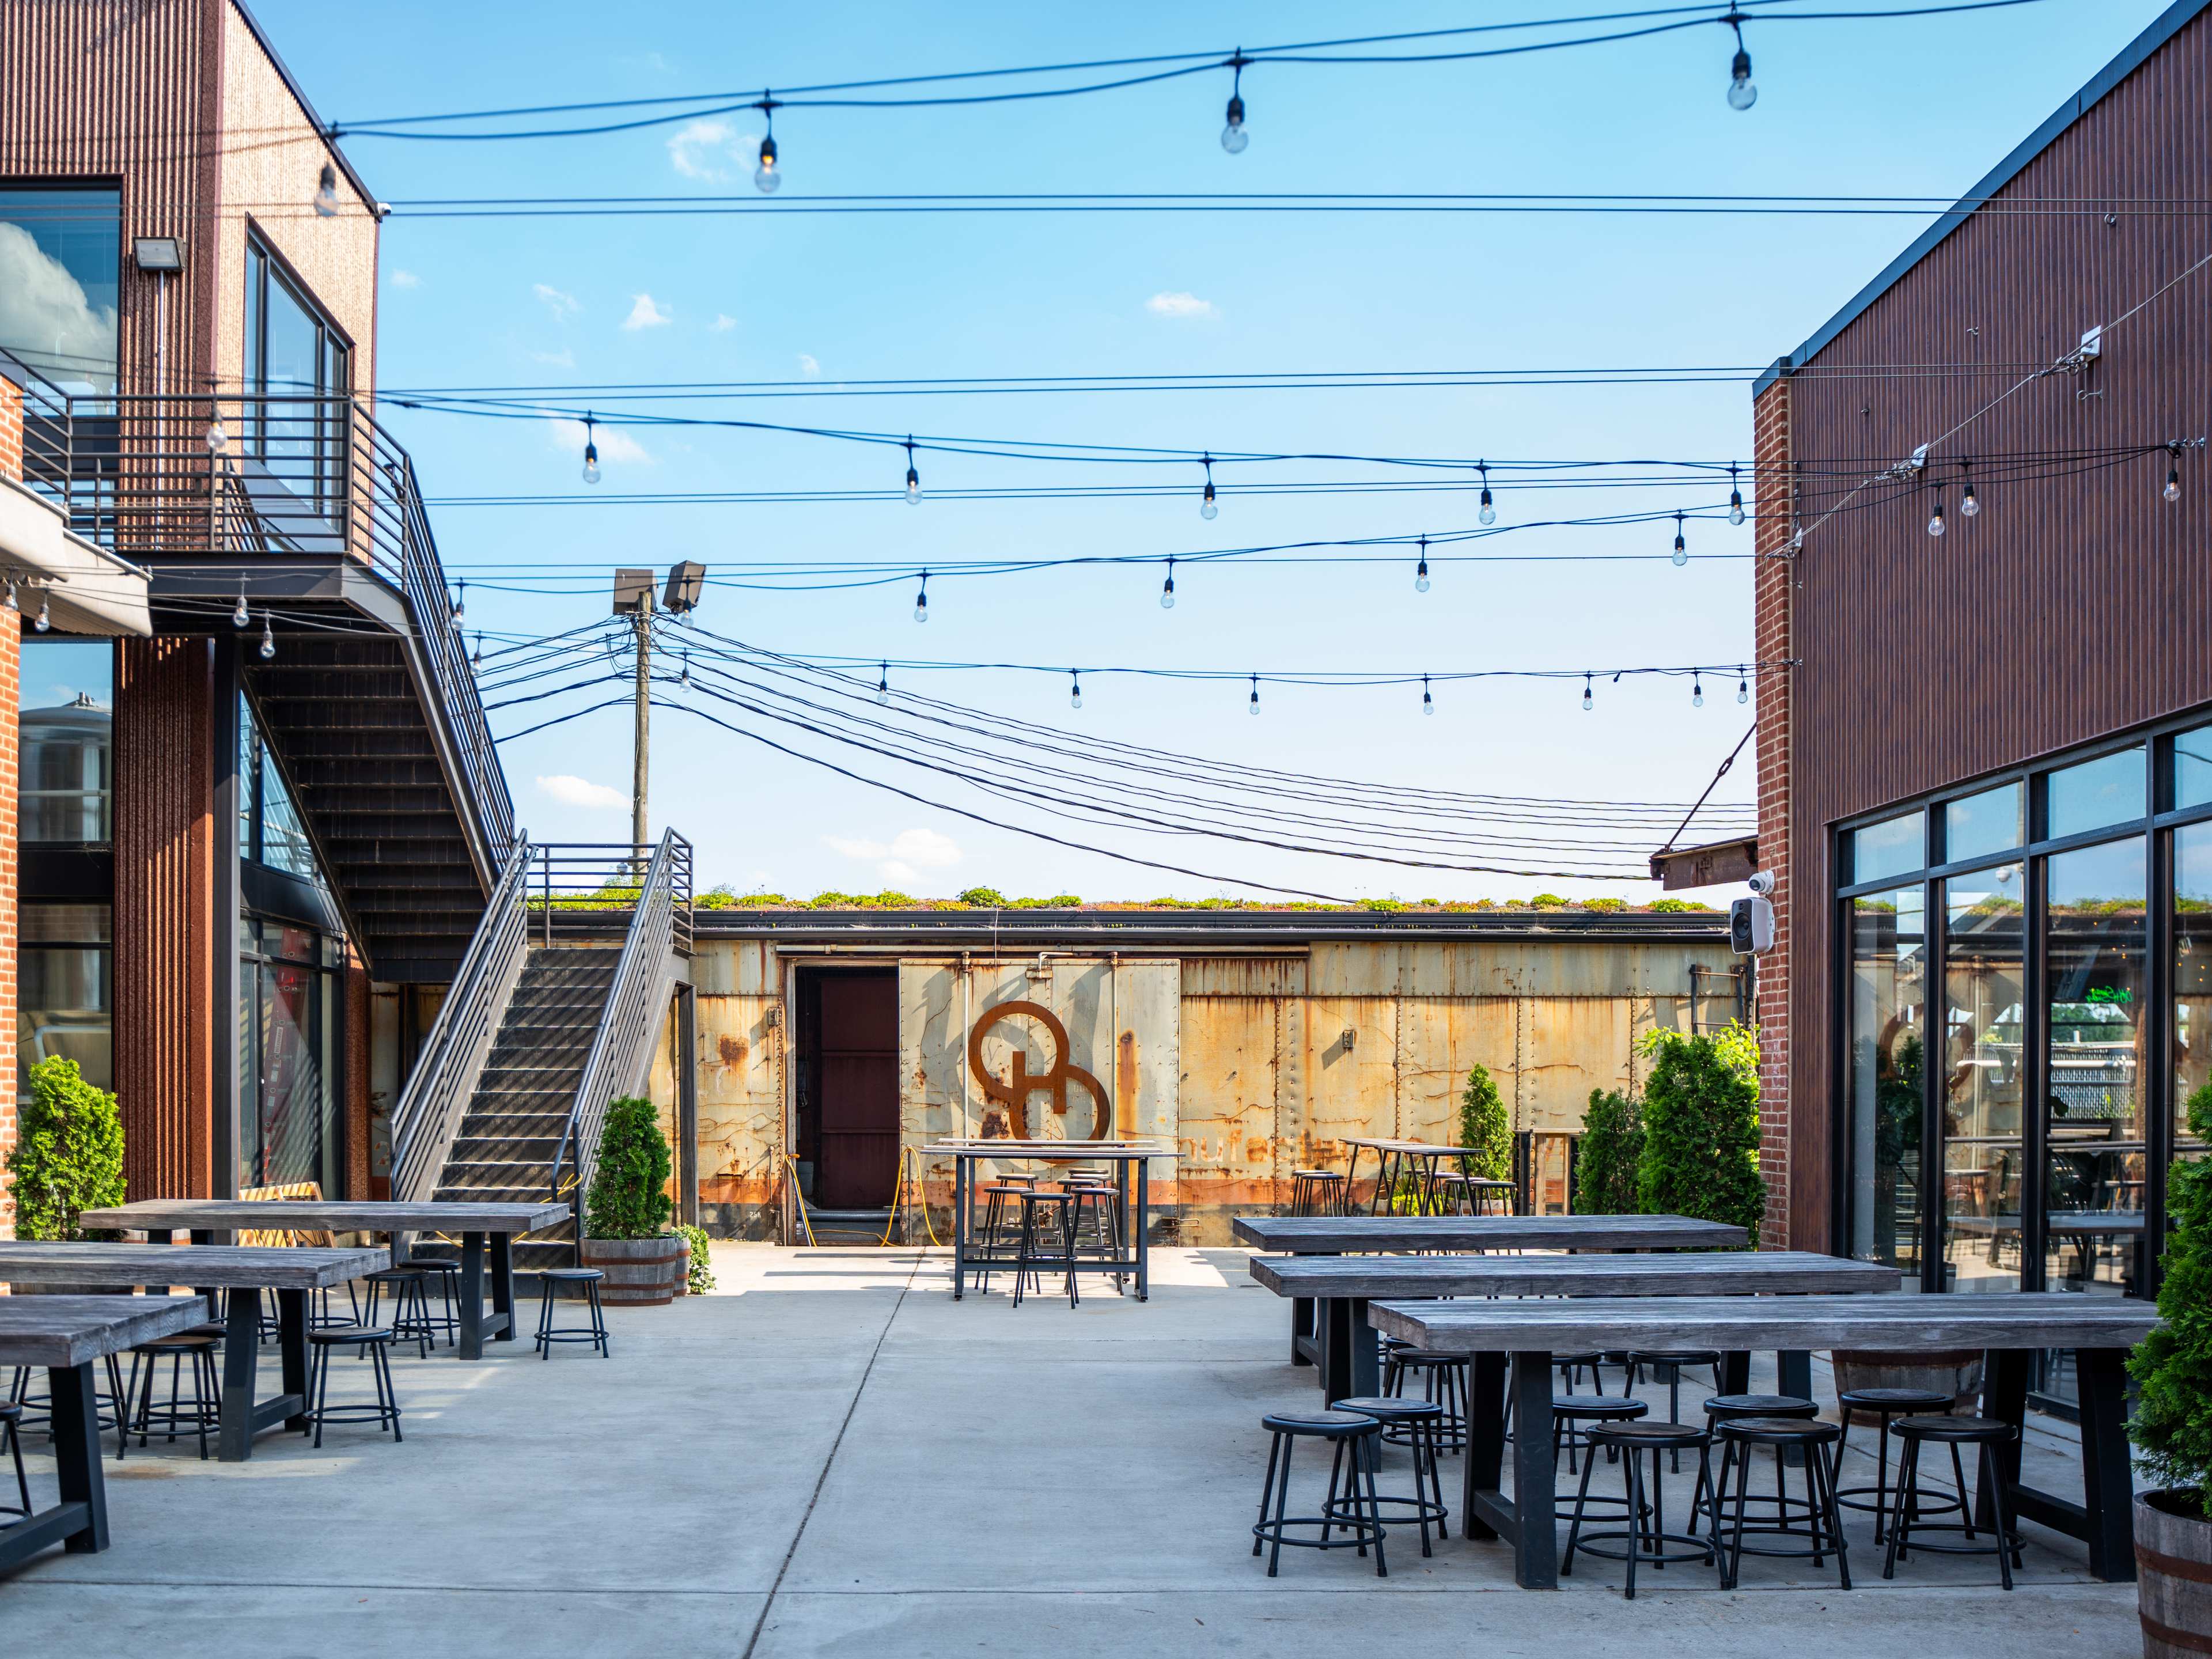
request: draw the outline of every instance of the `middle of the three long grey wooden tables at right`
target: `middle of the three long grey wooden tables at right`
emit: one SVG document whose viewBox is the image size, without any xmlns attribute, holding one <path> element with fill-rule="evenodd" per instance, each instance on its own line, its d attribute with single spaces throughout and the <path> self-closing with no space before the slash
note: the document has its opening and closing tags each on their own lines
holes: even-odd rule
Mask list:
<svg viewBox="0 0 2212 1659">
<path fill-rule="evenodd" d="M 1252 1256 L 1252 1279 L 1316 1310 L 1321 1391 L 1329 1400 L 1378 1391 L 1367 1305 L 1402 1296 L 1714 1296 L 1851 1294 L 1896 1290 L 1896 1267 L 1807 1250 L 1721 1250 L 1604 1256 Z M 1690 1343 L 1712 1347 L 1712 1343 Z M 1812 1356 L 1783 1354 L 1803 1376 Z M 1721 1391 L 1750 1389 L 1750 1352 L 1721 1356 Z M 1787 1391 L 1787 1389 L 1785 1389 Z"/>
</svg>

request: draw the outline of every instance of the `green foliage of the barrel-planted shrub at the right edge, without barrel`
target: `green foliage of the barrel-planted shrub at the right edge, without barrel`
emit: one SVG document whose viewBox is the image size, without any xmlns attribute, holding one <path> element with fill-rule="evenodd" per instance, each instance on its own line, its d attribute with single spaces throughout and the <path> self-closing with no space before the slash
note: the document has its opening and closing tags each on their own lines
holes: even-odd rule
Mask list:
<svg viewBox="0 0 2212 1659">
<path fill-rule="evenodd" d="M 2212 1084 L 2190 1095 L 2190 1133 L 2212 1135 Z M 2159 1327 L 2135 1345 L 2137 1467 L 2188 1493 L 2212 1520 L 2212 1161 L 2174 1159 L 2166 1181 L 2166 1279 Z"/>
</svg>

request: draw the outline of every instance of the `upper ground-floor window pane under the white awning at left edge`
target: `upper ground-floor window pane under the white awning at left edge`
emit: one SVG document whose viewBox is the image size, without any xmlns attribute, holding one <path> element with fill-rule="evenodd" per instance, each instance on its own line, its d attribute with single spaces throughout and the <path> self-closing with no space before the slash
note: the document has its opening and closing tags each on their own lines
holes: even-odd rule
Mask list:
<svg viewBox="0 0 2212 1659">
<path fill-rule="evenodd" d="M 15 728 L 22 841 L 104 845 L 113 834 L 115 646 L 24 639 Z"/>
</svg>

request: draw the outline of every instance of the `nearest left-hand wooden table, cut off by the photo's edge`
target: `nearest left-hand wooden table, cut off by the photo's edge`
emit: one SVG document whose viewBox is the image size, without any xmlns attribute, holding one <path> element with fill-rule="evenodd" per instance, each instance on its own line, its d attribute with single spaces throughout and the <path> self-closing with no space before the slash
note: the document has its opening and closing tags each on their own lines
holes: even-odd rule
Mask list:
<svg viewBox="0 0 2212 1659">
<path fill-rule="evenodd" d="M 208 1312 L 199 1296 L 0 1296 L 0 1365 L 46 1367 L 53 1469 L 62 1502 L 0 1528 L 0 1573 L 49 1544 L 71 1555 L 108 1546 L 100 1469 L 100 1387 L 93 1360 L 188 1332 Z"/>
</svg>

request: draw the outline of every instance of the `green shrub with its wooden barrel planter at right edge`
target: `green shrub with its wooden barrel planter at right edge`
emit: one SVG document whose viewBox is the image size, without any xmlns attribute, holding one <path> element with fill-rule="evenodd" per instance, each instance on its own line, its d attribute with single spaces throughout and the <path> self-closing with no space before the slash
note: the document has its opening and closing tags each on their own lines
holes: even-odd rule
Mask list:
<svg viewBox="0 0 2212 1659">
<path fill-rule="evenodd" d="M 2190 1133 L 2212 1135 L 2212 1084 L 2190 1097 Z M 2159 1327 L 2128 1356 L 2128 1433 L 2163 1491 L 2135 1498 L 2143 1659 L 2212 1652 L 2212 1164 L 2174 1159 L 2166 1183 Z"/>
</svg>

